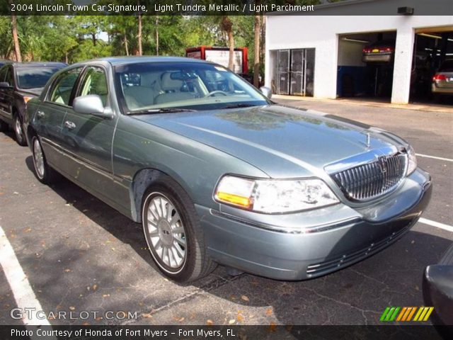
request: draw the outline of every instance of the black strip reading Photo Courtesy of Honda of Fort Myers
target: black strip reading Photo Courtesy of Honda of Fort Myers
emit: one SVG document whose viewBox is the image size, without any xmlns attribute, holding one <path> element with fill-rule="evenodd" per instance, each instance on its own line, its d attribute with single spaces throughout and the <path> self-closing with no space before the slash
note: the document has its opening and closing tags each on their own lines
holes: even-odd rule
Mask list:
<svg viewBox="0 0 453 340">
<path fill-rule="evenodd" d="M 452 339 L 433 326 L 0 326 L 1 340 Z"/>
</svg>

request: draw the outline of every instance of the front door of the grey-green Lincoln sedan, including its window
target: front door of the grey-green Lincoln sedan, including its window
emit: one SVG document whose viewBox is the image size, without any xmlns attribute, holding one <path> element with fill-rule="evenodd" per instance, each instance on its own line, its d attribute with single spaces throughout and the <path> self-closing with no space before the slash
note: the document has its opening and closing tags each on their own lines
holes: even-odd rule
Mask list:
<svg viewBox="0 0 453 340">
<path fill-rule="evenodd" d="M 75 97 L 97 95 L 105 107 L 110 107 L 108 70 L 102 65 L 90 65 L 84 70 Z M 64 151 L 67 172 L 81 186 L 110 202 L 112 187 L 112 142 L 117 115 L 101 118 L 76 113 L 69 108 L 63 122 Z"/>
</svg>

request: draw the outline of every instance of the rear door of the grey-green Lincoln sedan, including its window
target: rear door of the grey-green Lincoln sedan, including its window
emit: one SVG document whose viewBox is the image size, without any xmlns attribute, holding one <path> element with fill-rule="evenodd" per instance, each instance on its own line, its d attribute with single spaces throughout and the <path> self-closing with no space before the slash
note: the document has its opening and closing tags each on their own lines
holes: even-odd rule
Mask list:
<svg viewBox="0 0 453 340">
<path fill-rule="evenodd" d="M 63 119 L 67 111 L 71 110 L 71 101 L 82 69 L 83 67 L 69 69 L 52 81 L 45 96 L 45 102 L 38 108 L 33 121 L 40 136 L 47 162 L 58 170 L 65 167 L 62 162 Z"/>
</svg>

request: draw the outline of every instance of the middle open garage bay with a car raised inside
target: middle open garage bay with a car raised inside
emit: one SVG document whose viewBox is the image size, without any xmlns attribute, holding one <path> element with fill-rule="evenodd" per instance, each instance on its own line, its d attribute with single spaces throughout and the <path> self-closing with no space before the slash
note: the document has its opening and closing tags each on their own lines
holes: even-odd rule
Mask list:
<svg viewBox="0 0 453 340">
<path fill-rule="evenodd" d="M 390 102 L 396 31 L 338 36 L 337 96 Z"/>
</svg>

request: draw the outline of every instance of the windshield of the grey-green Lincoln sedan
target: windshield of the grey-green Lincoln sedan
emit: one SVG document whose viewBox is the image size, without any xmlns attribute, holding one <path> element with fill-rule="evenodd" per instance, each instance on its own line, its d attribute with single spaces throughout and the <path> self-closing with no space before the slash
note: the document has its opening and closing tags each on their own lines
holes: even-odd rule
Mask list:
<svg viewBox="0 0 453 340">
<path fill-rule="evenodd" d="M 153 112 L 160 108 L 210 110 L 268 104 L 265 96 L 248 82 L 214 64 L 120 65 L 115 67 L 115 83 L 127 113 Z"/>
</svg>

